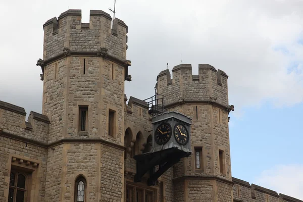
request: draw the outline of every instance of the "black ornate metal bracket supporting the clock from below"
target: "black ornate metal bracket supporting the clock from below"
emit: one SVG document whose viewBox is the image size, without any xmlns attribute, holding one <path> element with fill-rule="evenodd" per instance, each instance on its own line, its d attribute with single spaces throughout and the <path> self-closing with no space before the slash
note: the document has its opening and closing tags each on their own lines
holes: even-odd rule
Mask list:
<svg viewBox="0 0 303 202">
<path fill-rule="evenodd" d="M 188 157 L 191 152 L 179 150 L 177 147 L 157 151 L 155 153 L 145 153 L 134 156 L 137 162 L 137 173 L 134 181 L 140 182 L 143 175 L 149 171 L 147 185 L 156 185 L 157 179 L 170 167 L 178 163 L 182 158 Z M 156 166 L 159 166 L 156 171 Z"/>
</svg>

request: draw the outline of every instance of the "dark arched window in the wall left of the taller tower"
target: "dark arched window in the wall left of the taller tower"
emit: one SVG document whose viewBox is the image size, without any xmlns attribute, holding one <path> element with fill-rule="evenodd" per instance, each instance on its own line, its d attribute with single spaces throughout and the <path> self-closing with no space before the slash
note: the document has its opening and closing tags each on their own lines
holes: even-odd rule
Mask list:
<svg viewBox="0 0 303 202">
<path fill-rule="evenodd" d="M 26 201 L 26 175 L 12 171 L 10 175 L 10 189 L 8 202 Z"/>
</svg>

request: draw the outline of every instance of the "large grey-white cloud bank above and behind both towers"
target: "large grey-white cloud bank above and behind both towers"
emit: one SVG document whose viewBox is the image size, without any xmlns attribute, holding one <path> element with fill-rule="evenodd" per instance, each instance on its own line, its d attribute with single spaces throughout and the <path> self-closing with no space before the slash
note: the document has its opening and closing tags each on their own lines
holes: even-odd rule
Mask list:
<svg viewBox="0 0 303 202">
<path fill-rule="evenodd" d="M 26 92 L 22 96 L 40 96 L 41 70 L 35 62 L 42 57 L 42 24 L 67 9 L 82 9 L 83 22 L 88 22 L 89 9 L 109 12 L 113 1 L 28 0 L 15 5 L 0 3 L 5 8 L 0 12 L 6 19 L 3 27 L 10 30 L 0 33 L 0 93 L 19 88 Z M 303 100 L 303 75 L 298 71 L 303 45 L 297 43 L 303 38 L 303 1 L 129 0 L 117 1 L 116 8 L 116 16 L 129 26 L 127 55 L 133 81 L 125 84 L 128 97 L 153 95 L 166 63 L 172 69 L 182 60 L 193 65 L 195 74 L 197 64 L 225 71 L 236 111 L 264 102 L 284 107 Z M 294 62 L 298 70 L 291 72 Z M 41 106 L 41 98 L 33 102 Z M 29 106 L 21 100 L 15 104 Z"/>
</svg>

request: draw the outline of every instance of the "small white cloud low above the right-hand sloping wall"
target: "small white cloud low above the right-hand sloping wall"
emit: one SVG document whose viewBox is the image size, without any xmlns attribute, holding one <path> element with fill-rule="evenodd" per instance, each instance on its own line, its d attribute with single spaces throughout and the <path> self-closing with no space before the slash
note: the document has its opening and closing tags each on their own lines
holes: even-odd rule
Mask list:
<svg viewBox="0 0 303 202">
<path fill-rule="evenodd" d="M 265 170 L 257 184 L 298 199 L 303 199 L 303 165 L 278 165 Z"/>
</svg>

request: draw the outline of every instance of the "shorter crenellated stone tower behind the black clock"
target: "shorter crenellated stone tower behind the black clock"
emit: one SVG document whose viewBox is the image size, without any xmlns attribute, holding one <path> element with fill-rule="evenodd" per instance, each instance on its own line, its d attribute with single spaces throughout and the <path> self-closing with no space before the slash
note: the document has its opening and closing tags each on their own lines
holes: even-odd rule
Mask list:
<svg viewBox="0 0 303 202">
<path fill-rule="evenodd" d="M 232 201 L 228 113 L 228 76 L 211 65 L 189 64 L 157 77 L 164 105 L 192 118 L 192 155 L 174 166 L 174 201 Z"/>
</svg>

